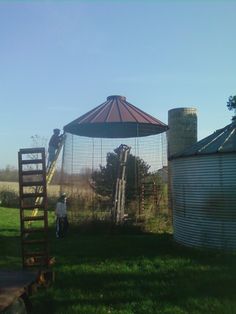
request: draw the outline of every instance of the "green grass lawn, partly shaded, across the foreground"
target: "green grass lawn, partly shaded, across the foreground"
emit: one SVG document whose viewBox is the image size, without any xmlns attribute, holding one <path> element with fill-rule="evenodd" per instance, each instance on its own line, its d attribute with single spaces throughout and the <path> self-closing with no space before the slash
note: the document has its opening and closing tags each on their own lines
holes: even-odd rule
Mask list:
<svg viewBox="0 0 236 314">
<path fill-rule="evenodd" d="M 0 268 L 19 268 L 18 210 L 0 214 Z M 56 280 L 33 295 L 33 313 L 236 313 L 236 255 L 183 248 L 170 234 L 50 232 Z"/>
</svg>

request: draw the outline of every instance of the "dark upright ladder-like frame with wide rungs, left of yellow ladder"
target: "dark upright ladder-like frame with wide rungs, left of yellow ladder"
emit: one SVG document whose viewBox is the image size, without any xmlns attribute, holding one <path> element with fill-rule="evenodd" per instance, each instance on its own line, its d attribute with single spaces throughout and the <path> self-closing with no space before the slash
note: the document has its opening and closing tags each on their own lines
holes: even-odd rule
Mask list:
<svg viewBox="0 0 236 314">
<path fill-rule="evenodd" d="M 49 266 L 45 157 L 45 148 L 24 148 L 18 152 L 23 268 Z"/>
</svg>

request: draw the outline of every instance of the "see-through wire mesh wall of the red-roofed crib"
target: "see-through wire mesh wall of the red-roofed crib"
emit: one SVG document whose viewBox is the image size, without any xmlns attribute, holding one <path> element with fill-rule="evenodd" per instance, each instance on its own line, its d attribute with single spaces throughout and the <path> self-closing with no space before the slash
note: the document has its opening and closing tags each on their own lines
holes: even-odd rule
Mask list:
<svg viewBox="0 0 236 314">
<path fill-rule="evenodd" d="M 67 133 L 61 191 L 68 195 L 70 221 L 109 220 L 115 203 L 118 147 L 130 153 L 125 173 L 123 220 L 168 212 L 166 133 L 135 138 L 90 138 Z"/>
</svg>

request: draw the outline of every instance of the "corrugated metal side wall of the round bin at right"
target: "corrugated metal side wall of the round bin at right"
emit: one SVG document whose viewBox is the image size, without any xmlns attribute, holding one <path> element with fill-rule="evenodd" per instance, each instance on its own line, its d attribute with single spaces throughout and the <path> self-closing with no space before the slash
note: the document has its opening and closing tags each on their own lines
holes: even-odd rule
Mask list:
<svg viewBox="0 0 236 314">
<path fill-rule="evenodd" d="M 174 159 L 171 174 L 175 240 L 236 249 L 236 154 Z"/>
</svg>

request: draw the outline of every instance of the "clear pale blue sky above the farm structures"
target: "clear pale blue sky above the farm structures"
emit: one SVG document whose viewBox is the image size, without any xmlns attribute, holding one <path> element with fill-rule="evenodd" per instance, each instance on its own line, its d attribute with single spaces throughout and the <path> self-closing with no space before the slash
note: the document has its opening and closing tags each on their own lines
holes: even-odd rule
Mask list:
<svg viewBox="0 0 236 314">
<path fill-rule="evenodd" d="M 113 94 L 165 123 L 171 108 L 197 108 L 199 139 L 229 124 L 235 12 L 235 1 L 0 2 L 0 168 Z"/>
</svg>

